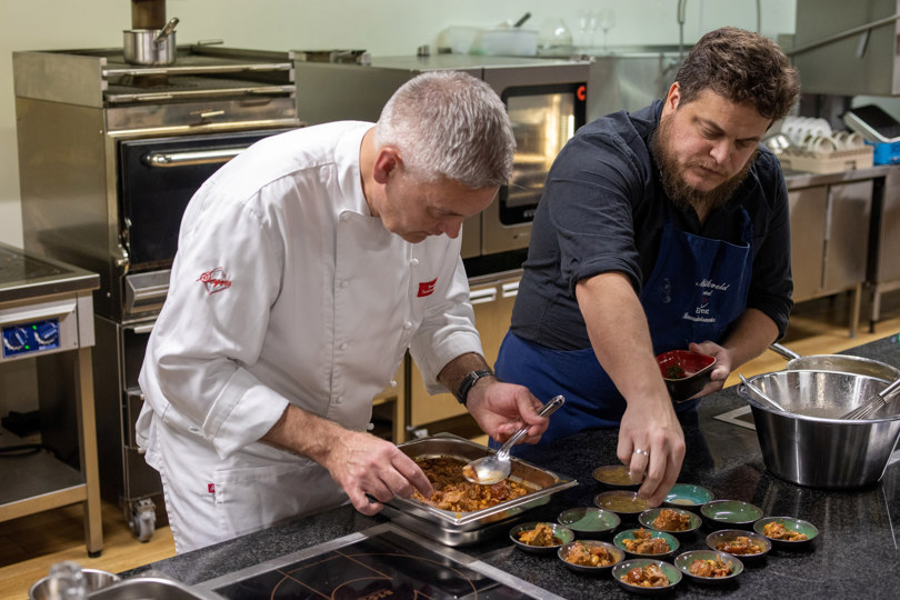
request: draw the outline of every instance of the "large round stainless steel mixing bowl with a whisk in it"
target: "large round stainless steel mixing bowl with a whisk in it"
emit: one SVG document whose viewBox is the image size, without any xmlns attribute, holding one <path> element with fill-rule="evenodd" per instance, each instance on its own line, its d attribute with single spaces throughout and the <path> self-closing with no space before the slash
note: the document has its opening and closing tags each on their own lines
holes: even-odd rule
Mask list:
<svg viewBox="0 0 900 600">
<path fill-rule="evenodd" d="M 762 460 L 774 476 L 810 488 L 851 489 L 874 484 L 884 474 L 900 439 L 900 414 L 861 421 L 839 417 L 888 382 L 828 371 L 777 371 L 749 381 L 787 410 L 770 408 L 746 386 L 738 387 L 753 412 Z"/>
</svg>

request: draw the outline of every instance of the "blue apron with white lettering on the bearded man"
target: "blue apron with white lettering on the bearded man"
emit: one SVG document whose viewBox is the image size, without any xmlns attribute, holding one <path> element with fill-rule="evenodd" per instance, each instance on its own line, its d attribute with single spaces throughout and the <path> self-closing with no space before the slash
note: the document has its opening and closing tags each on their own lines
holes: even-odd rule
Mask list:
<svg viewBox="0 0 900 600">
<path fill-rule="evenodd" d="M 667 216 L 657 263 L 640 294 L 654 353 L 687 349 L 692 341 L 719 342 L 743 313 L 753 226 L 746 210 L 741 216 L 740 246 L 676 230 Z M 527 386 L 544 402 L 558 393 L 566 397 L 540 446 L 591 427 L 618 427 L 627 407 L 592 348 L 553 350 L 508 332 L 494 370 L 501 380 Z M 677 410 L 696 404 L 683 402 Z M 518 446 L 513 453 L 528 453 L 527 448 Z"/>
</svg>

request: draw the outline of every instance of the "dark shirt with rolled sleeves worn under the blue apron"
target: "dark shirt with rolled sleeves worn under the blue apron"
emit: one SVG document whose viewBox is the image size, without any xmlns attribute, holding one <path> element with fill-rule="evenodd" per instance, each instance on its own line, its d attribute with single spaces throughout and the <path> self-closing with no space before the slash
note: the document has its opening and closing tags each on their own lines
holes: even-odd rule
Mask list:
<svg viewBox="0 0 900 600">
<path fill-rule="evenodd" d="M 662 101 L 633 113 L 616 112 L 578 130 L 553 162 L 534 216 L 511 331 L 558 350 L 588 348 L 590 340 L 574 296 L 593 276 L 626 273 L 640 293 L 659 253 L 667 220 L 676 229 L 741 243 L 741 208 L 753 224 L 753 269 L 748 308 L 788 327 L 790 271 L 788 190 L 781 166 L 760 146 L 744 181 L 724 207 L 700 224 L 666 196 L 650 140 Z M 624 341 L 624 340 L 620 340 Z"/>
</svg>

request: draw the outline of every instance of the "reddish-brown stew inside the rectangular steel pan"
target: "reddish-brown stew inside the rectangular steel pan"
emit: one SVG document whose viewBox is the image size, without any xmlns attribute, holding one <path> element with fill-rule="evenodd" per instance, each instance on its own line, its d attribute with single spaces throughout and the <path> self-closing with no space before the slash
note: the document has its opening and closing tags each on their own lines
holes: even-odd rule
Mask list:
<svg viewBox="0 0 900 600">
<path fill-rule="evenodd" d="M 417 458 L 416 463 L 431 481 L 434 493 L 431 498 L 426 498 L 417 490 L 412 494 L 413 498 L 442 510 L 472 512 L 534 491 L 511 479 L 504 479 L 493 486 L 467 481 L 462 477 L 466 461 L 453 457 Z"/>
</svg>

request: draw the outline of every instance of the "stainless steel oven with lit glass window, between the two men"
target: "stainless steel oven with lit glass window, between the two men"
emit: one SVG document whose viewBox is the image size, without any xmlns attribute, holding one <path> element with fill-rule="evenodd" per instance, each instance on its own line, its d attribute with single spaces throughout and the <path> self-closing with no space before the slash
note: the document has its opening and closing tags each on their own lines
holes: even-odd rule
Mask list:
<svg viewBox="0 0 900 600">
<path fill-rule="evenodd" d="M 547 171 L 584 124 L 590 62 L 469 54 L 372 57 L 370 64 L 297 60 L 298 116 L 309 123 L 376 121 L 397 88 L 433 70 L 464 71 L 482 79 L 507 106 L 518 144 L 513 176 L 488 210 L 464 223 L 462 257 L 470 274 L 518 267 Z M 504 256 L 519 264 L 503 261 Z"/>
</svg>

